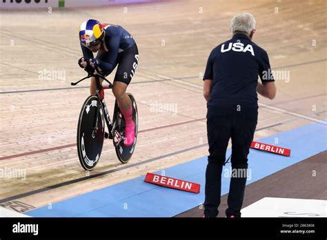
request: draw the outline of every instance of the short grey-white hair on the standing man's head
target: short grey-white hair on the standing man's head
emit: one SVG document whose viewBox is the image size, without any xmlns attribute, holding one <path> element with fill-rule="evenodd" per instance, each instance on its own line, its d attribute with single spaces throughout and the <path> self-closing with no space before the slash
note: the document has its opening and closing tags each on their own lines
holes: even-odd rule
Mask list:
<svg viewBox="0 0 327 240">
<path fill-rule="evenodd" d="M 235 34 L 235 32 L 246 32 L 250 35 L 253 29 L 255 29 L 255 17 L 252 14 L 242 13 L 232 18 L 232 23 L 230 24 L 232 34 Z"/>
</svg>

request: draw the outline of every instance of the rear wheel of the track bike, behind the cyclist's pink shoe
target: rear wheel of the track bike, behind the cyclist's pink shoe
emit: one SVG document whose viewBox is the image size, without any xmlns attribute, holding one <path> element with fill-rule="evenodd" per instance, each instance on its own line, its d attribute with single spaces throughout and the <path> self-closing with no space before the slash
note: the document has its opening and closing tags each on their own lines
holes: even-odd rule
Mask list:
<svg viewBox="0 0 327 240">
<path fill-rule="evenodd" d="M 114 128 L 112 128 L 112 136 L 113 136 L 112 141 L 115 146 L 117 158 L 119 159 L 119 161 L 121 161 L 121 163 L 127 163 L 130 160 L 137 143 L 137 131 L 138 131 L 138 123 L 139 123 L 138 114 L 137 114 L 137 103 L 131 93 L 128 93 L 128 97 L 130 97 L 130 100 L 132 101 L 132 109 L 133 109 L 132 118 L 135 123 L 135 140 L 131 146 L 125 146 L 123 144 L 123 136 L 125 135 L 125 120 L 123 119 L 123 114 L 121 114 L 119 110 L 117 100 L 115 101 L 115 109 L 114 109 L 114 117 L 113 117 Z"/>
</svg>

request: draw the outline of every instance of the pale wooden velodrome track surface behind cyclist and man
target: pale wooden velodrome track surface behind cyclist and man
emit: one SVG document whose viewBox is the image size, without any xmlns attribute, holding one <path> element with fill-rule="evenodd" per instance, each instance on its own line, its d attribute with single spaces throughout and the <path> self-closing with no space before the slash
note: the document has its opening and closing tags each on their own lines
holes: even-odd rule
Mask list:
<svg viewBox="0 0 327 240">
<path fill-rule="evenodd" d="M 38 208 L 206 155 L 201 74 L 239 12 L 255 15 L 253 41 L 267 50 L 273 70 L 290 72 L 290 81 L 276 82 L 273 101 L 259 97 L 255 139 L 326 119 L 326 1 L 161 1 L 128 5 L 127 13 L 123 7 L 1 12 L 0 168 L 27 176 L 0 179 L 0 203 Z M 77 65 L 77 31 L 90 18 L 117 23 L 137 41 L 139 66 L 128 92 L 138 103 L 139 138 L 126 165 L 106 141 L 88 177 L 76 150 L 88 82 L 70 82 L 85 75 Z M 64 71 L 66 80 L 39 79 L 44 70 Z M 107 92 L 110 114 L 113 101 Z M 154 108 L 160 104 L 177 111 Z"/>
</svg>

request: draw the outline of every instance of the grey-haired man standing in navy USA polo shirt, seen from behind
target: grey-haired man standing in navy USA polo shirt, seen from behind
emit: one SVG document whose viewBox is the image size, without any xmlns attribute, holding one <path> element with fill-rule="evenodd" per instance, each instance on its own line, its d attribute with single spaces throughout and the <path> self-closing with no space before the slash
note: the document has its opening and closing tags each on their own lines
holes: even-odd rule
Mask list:
<svg viewBox="0 0 327 240">
<path fill-rule="evenodd" d="M 257 126 L 257 92 L 274 99 L 276 87 L 267 52 L 252 42 L 255 17 L 239 14 L 232 19 L 232 39 L 210 53 L 204 74 L 209 143 L 204 217 L 217 217 L 221 171 L 232 139 L 232 172 L 246 173 L 248 152 Z M 258 75 L 261 83 L 258 83 Z M 246 174 L 230 174 L 226 217 L 241 217 Z"/>
</svg>

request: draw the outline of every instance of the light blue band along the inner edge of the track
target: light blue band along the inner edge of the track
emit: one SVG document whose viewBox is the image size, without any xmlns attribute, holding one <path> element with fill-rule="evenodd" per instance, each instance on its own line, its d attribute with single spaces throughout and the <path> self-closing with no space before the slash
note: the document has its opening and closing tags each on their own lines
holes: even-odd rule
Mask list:
<svg viewBox="0 0 327 240">
<path fill-rule="evenodd" d="M 275 139 L 279 143 L 275 143 Z M 290 148 L 290 157 L 268 152 L 250 150 L 248 155 L 253 183 L 283 168 L 307 159 L 327 149 L 327 127 L 321 123 L 310 123 L 300 128 L 281 132 L 264 139 L 261 143 Z M 230 155 L 230 149 L 227 151 Z M 144 176 L 88 192 L 58 203 L 27 212 L 31 217 L 173 217 L 181 212 L 199 206 L 204 201 L 204 183 L 207 158 L 201 157 L 187 163 L 165 169 L 165 175 L 201 184 L 199 194 L 162 188 L 145 183 Z M 221 194 L 229 189 L 229 177 L 221 179 Z M 161 174 L 160 172 L 156 172 Z M 144 172 L 146 174 L 146 172 Z"/>
</svg>

